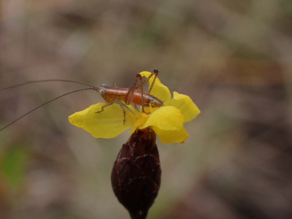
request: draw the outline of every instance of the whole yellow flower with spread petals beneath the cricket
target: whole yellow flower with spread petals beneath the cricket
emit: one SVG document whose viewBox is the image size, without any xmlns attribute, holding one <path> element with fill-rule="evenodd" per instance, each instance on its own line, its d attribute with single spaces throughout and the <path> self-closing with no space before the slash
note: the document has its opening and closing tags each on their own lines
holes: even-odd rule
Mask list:
<svg viewBox="0 0 292 219">
<path fill-rule="evenodd" d="M 148 77 L 151 73 L 141 72 L 140 74 Z M 149 81 L 152 84 L 153 77 Z M 96 112 L 100 111 L 105 103 L 92 105 L 69 116 L 69 122 L 88 131 L 95 138 L 114 138 L 129 128 L 132 128 L 129 133 L 134 133 L 137 128 L 144 129 L 151 126 L 162 143 L 183 143 L 189 137 L 183 123 L 197 117 L 200 110 L 187 95 L 173 92 L 173 98 L 171 98 L 168 88 L 158 78 L 155 80 L 151 94 L 164 101 L 165 106 L 145 107 L 145 111 L 151 113 L 145 114 L 128 105 L 128 108 L 124 107 L 126 110 L 125 124 L 123 124 L 123 111 L 116 103 L 105 107 L 101 113 Z"/>
</svg>

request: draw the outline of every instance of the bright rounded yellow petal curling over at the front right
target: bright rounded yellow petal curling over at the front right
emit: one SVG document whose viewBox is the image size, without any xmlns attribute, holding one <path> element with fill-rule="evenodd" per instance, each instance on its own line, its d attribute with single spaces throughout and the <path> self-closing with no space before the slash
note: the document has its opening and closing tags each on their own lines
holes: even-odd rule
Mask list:
<svg viewBox="0 0 292 219">
<path fill-rule="evenodd" d="M 150 115 L 142 128 L 148 126 L 166 131 L 180 130 L 183 127 L 183 115 L 173 106 L 160 107 Z"/>
</svg>

